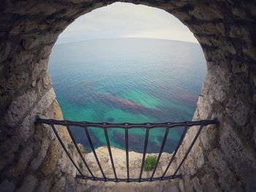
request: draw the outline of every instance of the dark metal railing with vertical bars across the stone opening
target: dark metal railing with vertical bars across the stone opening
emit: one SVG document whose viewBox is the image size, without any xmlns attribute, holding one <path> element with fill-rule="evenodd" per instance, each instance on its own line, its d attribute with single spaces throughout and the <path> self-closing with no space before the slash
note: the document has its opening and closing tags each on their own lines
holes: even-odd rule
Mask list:
<svg viewBox="0 0 256 192">
<path fill-rule="evenodd" d="M 202 131 L 204 126 L 208 126 L 208 125 L 212 125 L 212 124 L 218 124 L 218 120 L 214 119 L 214 120 L 200 120 L 200 121 L 186 121 L 186 122 L 181 122 L 181 123 L 172 123 L 172 122 L 167 122 L 167 123 L 91 123 L 91 122 L 74 122 L 74 121 L 69 121 L 69 120 L 53 120 L 53 119 L 42 119 L 42 118 L 37 118 L 36 123 L 43 123 L 43 124 L 48 124 L 51 126 L 51 128 L 53 128 L 54 133 L 56 134 L 57 139 L 59 140 L 61 146 L 63 147 L 64 151 L 67 153 L 67 156 L 69 157 L 70 161 L 72 162 L 72 164 L 75 166 L 75 168 L 78 170 L 79 174 L 76 175 L 77 178 L 81 178 L 84 180 L 100 180 L 100 181 L 113 181 L 113 182 L 143 182 L 143 181 L 154 181 L 154 180 L 169 180 L 169 179 L 176 179 L 176 178 L 181 178 L 181 174 L 177 174 L 178 170 L 181 168 L 182 164 L 184 163 L 184 161 L 187 158 L 187 155 L 189 155 L 190 150 L 192 149 L 193 145 L 195 144 L 197 137 L 199 136 L 200 132 Z M 67 131 L 69 132 L 69 136 L 72 139 L 73 144 L 75 145 L 76 150 L 78 151 L 78 154 L 80 155 L 80 158 L 83 161 L 83 164 L 86 166 L 86 169 L 88 169 L 89 174 L 90 175 L 85 175 L 82 173 L 82 170 L 78 167 L 77 164 L 75 164 L 75 161 L 73 160 L 72 156 L 70 155 L 70 153 L 68 152 L 67 148 L 64 145 L 64 142 L 62 142 L 61 137 L 59 136 L 58 132 L 56 131 L 56 127 L 55 125 L 59 125 L 59 126 L 65 126 L 67 128 Z M 70 130 L 69 126 L 78 126 L 83 128 L 84 132 L 85 132 L 85 136 L 88 139 L 89 145 L 91 147 L 91 151 L 94 154 L 94 158 L 97 161 L 97 165 L 99 166 L 99 170 L 102 174 L 102 177 L 96 177 L 94 175 L 94 173 L 91 171 L 89 164 L 86 163 L 85 158 L 83 157 L 77 142 L 75 141 L 75 138 L 72 134 L 72 131 Z M 172 174 L 172 175 L 167 175 L 167 170 L 170 168 L 170 165 L 173 163 L 173 160 L 176 157 L 176 153 L 179 149 L 179 147 L 181 146 L 183 139 L 185 137 L 185 134 L 187 133 L 187 129 L 189 127 L 192 126 L 200 126 L 200 128 L 197 131 L 197 134 L 195 134 L 195 138 L 192 140 L 191 145 L 189 146 L 189 148 L 187 149 L 187 152 L 184 155 L 184 158 L 182 158 L 182 160 L 180 161 L 180 163 L 178 164 L 178 166 L 176 167 L 176 171 Z M 110 162 L 111 162 L 111 166 L 113 169 L 113 173 L 114 173 L 114 178 L 108 178 L 106 177 L 105 173 L 103 172 L 102 169 L 102 165 L 99 162 L 99 158 L 97 156 L 97 153 L 95 152 L 94 149 L 94 145 L 91 141 L 91 137 L 88 131 L 89 127 L 94 127 L 94 128 L 102 128 L 104 130 L 104 134 L 105 134 L 105 139 L 107 142 L 107 146 L 108 146 L 108 153 L 110 156 Z M 153 172 L 151 174 L 151 177 L 147 177 L 147 178 L 143 178 L 143 167 L 145 165 L 145 159 L 146 159 L 146 150 L 147 150 L 147 145 L 148 145 L 148 135 L 149 132 L 151 130 L 151 128 L 165 128 L 165 135 L 163 137 L 162 140 L 162 145 L 160 147 L 159 153 L 158 153 L 158 157 L 157 157 L 157 163 L 154 166 Z M 167 167 L 165 169 L 165 172 L 162 174 L 161 177 L 154 177 L 154 174 L 157 170 L 157 166 L 159 164 L 159 160 L 161 158 L 162 152 L 164 150 L 165 147 L 165 142 L 169 133 L 170 128 L 174 128 L 174 127 L 184 127 L 184 131 L 181 134 L 181 138 L 178 141 L 178 145 L 176 146 L 176 149 L 173 152 L 172 157 L 170 158 L 169 163 L 167 164 Z M 125 134 L 125 150 L 126 150 L 126 163 L 127 163 L 127 178 L 118 178 L 117 174 L 116 174 L 116 168 L 115 168 L 115 164 L 113 161 L 113 155 L 111 152 L 111 148 L 110 148 L 110 140 L 108 137 L 108 128 L 123 128 L 124 129 L 124 134 Z M 141 167 L 140 167 L 140 176 L 138 178 L 130 178 L 129 177 L 129 129 L 130 128 L 145 128 L 146 129 L 146 136 L 145 136 L 145 140 L 144 140 L 144 146 L 143 146 L 143 158 L 142 158 L 142 163 L 141 163 Z"/>
</svg>

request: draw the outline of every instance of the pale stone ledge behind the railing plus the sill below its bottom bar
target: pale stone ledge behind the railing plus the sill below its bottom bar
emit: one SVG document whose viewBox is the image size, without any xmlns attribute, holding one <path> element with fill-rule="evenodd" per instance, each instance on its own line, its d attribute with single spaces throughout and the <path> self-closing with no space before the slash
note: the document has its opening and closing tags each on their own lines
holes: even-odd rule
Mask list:
<svg viewBox="0 0 256 192">
<path fill-rule="evenodd" d="M 82 145 L 78 145 L 80 150 L 83 153 L 83 157 L 86 160 L 86 163 L 89 164 L 91 171 L 94 176 L 102 177 L 102 174 L 99 170 L 99 166 L 97 165 L 97 161 L 94 158 L 94 154 L 86 153 L 83 150 Z M 83 174 L 90 175 L 86 167 L 83 165 L 83 161 L 80 159 L 78 153 L 75 151 L 75 147 L 72 147 L 70 150 L 72 155 L 75 157 L 75 161 L 80 166 L 80 169 L 83 170 Z M 112 164 L 110 161 L 108 147 L 99 147 L 95 150 L 97 156 L 99 158 L 99 162 L 102 166 L 103 172 L 106 177 L 114 178 Z M 113 155 L 113 161 L 116 168 L 116 174 L 118 178 L 127 178 L 127 161 L 126 161 L 126 152 L 125 150 L 118 149 L 116 147 L 111 147 L 111 152 Z M 146 156 L 156 156 L 158 153 L 147 153 Z M 140 175 L 140 167 L 142 161 L 143 154 L 129 152 L 129 177 L 130 178 L 138 178 Z M 157 166 L 157 170 L 154 174 L 154 177 L 162 176 L 163 172 L 167 167 L 167 164 L 170 161 L 172 154 L 170 153 L 162 153 L 159 164 Z M 170 166 L 166 175 L 173 174 L 174 168 L 176 168 L 176 159 L 173 161 L 173 166 Z M 144 171 L 142 177 L 151 177 L 152 171 Z M 178 179 L 177 180 L 163 180 L 163 181 L 154 181 L 154 182 L 144 182 L 144 183 L 115 183 L 115 182 L 99 182 L 99 181 L 91 181 L 88 180 L 86 185 L 84 185 L 83 190 L 86 191 L 151 191 L 154 188 L 154 191 L 179 191 L 178 190 Z M 158 189 L 158 190 L 157 190 Z"/>
</svg>

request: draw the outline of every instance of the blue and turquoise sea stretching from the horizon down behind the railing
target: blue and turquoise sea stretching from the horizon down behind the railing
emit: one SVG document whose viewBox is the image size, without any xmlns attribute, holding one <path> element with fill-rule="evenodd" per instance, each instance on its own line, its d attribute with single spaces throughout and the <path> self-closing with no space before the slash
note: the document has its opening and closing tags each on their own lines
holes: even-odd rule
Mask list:
<svg viewBox="0 0 256 192">
<path fill-rule="evenodd" d="M 206 73 L 200 45 L 162 39 L 101 39 L 53 47 L 49 64 L 66 120 L 145 123 L 191 120 Z M 166 152 L 183 128 L 170 130 Z M 164 128 L 151 129 L 148 153 L 157 153 Z M 145 130 L 129 130 L 129 150 L 141 152 Z M 77 142 L 91 151 L 82 128 Z M 101 128 L 89 128 L 94 146 L 106 145 Z M 124 149 L 124 130 L 108 130 L 110 144 Z"/>
</svg>

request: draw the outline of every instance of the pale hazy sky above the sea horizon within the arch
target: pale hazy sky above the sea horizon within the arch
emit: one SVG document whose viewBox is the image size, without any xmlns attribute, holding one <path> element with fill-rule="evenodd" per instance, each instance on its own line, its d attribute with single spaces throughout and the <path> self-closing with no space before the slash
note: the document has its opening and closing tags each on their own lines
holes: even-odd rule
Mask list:
<svg viewBox="0 0 256 192">
<path fill-rule="evenodd" d="M 197 42 L 187 26 L 162 9 L 114 3 L 80 16 L 62 32 L 57 44 L 118 37 Z"/>
</svg>

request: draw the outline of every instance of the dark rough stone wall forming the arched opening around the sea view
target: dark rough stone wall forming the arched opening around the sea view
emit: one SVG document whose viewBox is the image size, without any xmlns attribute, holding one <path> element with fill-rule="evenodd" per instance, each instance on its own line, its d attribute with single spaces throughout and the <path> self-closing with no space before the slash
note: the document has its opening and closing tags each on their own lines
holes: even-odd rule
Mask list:
<svg viewBox="0 0 256 192">
<path fill-rule="evenodd" d="M 36 115 L 61 118 L 47 72 L 51 48 L 61 31 L 80 15 L 113 2 L 1 2 L 0 188 L 3 191 L 81 189 L 72 177 L 74 169 L 67 164 L 50 129 L 35 128 L 34 118 Z M 186 176 L 176 183 L 176 190 L 255 191 L 255 2 L 127 2 L 165 9 L 176 16 L 189 27 L 206 56 L 208 72 L 194 120 L 217 117 L 220 125 L 208 126 L 203 131 L 183 168 Z M 187 140 L 193 134 L 190 130 Z"/>
</svg>

